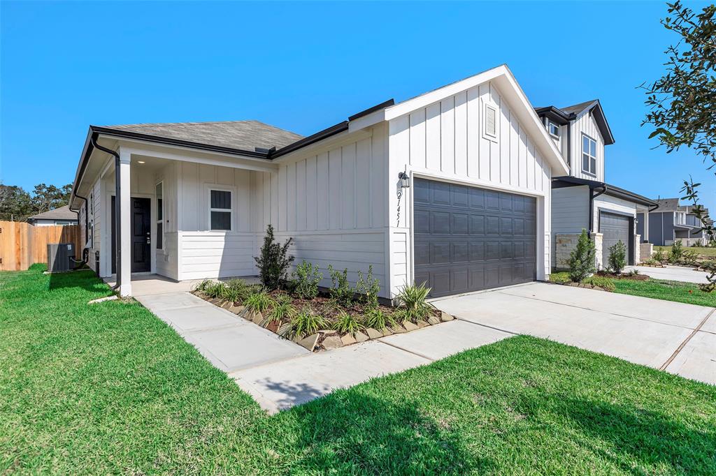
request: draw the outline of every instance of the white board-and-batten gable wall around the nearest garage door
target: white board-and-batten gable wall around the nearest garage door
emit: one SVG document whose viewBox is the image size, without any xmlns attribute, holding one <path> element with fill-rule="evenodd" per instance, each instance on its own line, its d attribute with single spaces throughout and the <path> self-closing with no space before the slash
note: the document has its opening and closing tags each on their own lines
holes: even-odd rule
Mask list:
<svg viewBox="0 0 716 476">
<path fill-rule="evenodd" d="M 497 109 L 497 139 L 483 134 L 485 104 Z M 413 279 L 412 193 L 404 190 L 397 220 L 397 174 L 459 182 L 537 197 L 538 279 L 550 263 L 551 167 L 528 137 L 508 101 L 486 82 L 390 121 L 388 171 L 391 292 Z M 405 245 L 403 244 L 405 242 Z M 405 251 L 403 251 L 405 249 Z M 405 257 L 405 258 L 404 258 Z M 401 262 L 405 259 L 405 263 Z M 405 271 L 403 271 L 405 270 Z"/>
</svg>

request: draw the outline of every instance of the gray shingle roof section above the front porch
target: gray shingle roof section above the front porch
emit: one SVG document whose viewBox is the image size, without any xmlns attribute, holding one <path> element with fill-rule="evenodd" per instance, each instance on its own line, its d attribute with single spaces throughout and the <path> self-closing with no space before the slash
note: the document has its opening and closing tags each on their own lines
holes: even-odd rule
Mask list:
<svg viewBox="0 0 716 476">
<path fill-rule="evenodd" d="M 246 151 L 253 151 L 256 147 L 280 149 L 303 138 L 294 132 L 258 121 L 176 122 L 103 127 Z"/>
</svg>

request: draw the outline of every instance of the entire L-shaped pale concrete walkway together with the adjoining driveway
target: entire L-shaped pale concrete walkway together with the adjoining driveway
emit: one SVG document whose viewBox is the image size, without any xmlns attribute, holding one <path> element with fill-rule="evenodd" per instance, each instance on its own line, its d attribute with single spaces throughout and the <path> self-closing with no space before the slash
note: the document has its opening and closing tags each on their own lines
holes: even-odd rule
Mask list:
<svg viewBox="0 0 716 476">
<path fill-rule="evenodd" d="M 269 412 L 531 334 L 716 384 L 715 309 L 531 283 L 437 299 L 452 322 L 313 354 L 187 292 L 138 297 Z"/>
</svg>

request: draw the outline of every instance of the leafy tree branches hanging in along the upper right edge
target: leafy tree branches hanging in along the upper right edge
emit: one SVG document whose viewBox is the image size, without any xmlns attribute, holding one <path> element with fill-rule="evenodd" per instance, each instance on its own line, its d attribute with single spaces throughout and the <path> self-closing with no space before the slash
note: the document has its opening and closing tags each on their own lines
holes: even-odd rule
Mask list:
<svg viewBox="0 0 716 476">
<path fill-rule="evenodd" d="M 654 128 L 649 138 L 656 137 L 667 153 L 690 147 L 712 169 L 716 165 L 716 5 L 705 6 L 698 14 L 680 1 L 667 8 L 669 16 L 661 23 L 678 35 L 678 41 L 664 51 L 666 74 L 648 86 L 642 84 L 649 108 L 642 125 Z M 692 179 L 684 180 L 683 198 L 693 202 L 692 211 L 712 243 L 715 229 L 699 204 L 699 186 Z M 709 282 L 705 289 L 716 289 L 716 270 Z"/>
</svg>

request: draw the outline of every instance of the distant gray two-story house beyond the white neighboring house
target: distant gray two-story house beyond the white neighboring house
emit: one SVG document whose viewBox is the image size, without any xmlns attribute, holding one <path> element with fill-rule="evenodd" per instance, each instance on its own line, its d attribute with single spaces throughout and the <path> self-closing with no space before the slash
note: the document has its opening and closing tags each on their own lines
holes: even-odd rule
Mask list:
<svg viewBox="0 0 716 476">
<path fill-rule="evenodd" d="M 648 214 L 649 242 L 658 246 L 671 246 L 680 240 L 684 246 L 704 245 L 706 238 L 702 231 L 700 219 L 692 213 L 692 207 L 679 205 L 678 198 L 657 199 L 659 208 Z M 704 209 L 708 217 L 708 209 Z M 640 214 L 637 232 L 644 230 L 645 215 Z M 711 219 L 707 219 L 712 223 Z"/>
</svg>

